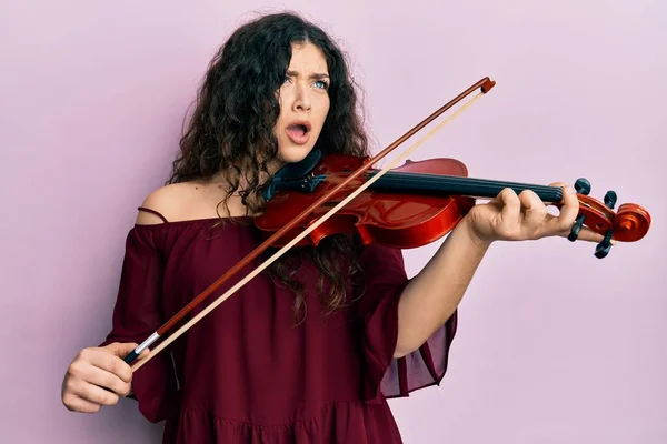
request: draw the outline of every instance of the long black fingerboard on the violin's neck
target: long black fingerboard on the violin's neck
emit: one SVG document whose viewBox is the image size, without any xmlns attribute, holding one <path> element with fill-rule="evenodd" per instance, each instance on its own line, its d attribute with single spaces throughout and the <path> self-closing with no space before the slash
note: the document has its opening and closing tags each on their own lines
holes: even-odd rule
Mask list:
<svg viewBox="0 0 667 444">
<path fill-rule="evenodd" d="M 377 172 L 369 172 L 374 175 Z M 479 199 L 494 199 L 502 189 L 512 189 L 517 194 L 525 190 L 534 191 L 545 203 L 558 203 L 563 200 L 563 190 L 558 186 L 532 185 L 528 183 L 474 179 L 458 175 L 426 173 L 404 173 L 388 171 L 370 185 L 374 190 L 420 191 L 434 194 L 466 195 Z"/>
</svg>

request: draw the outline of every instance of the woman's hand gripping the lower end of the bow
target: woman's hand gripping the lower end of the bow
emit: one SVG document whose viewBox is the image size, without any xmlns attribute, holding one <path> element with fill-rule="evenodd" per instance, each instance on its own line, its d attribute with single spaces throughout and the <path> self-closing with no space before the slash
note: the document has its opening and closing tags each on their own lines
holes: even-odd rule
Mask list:
<svg viewBox="0 0 667 444">
<path fill-rule="evenodd" d="M 137 347 L 133 343 L 112 343 L 79 352 L 62 380 L 62 404 L 72 412 L 97 413 L 131 393 L 132 371 L 122 357 Z M 141 353 L 148 354 L 145 350 Z M 106 389 L 106 390 L 104 390 Z"/>
</svg>

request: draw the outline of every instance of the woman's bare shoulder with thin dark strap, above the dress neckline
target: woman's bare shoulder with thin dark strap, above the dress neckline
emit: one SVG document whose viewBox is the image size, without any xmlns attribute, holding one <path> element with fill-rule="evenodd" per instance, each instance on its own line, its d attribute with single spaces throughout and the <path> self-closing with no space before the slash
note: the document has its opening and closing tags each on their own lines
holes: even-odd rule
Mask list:
<svg viewBox="0 0 667 444">
<path fill-rule="evenodd" d="M 137 213 L 137 224 L 151 225 L 166 221 L 195 219 L 201 212 L 199 194 L 203 188 L 206 185 L 199 182 L 183 182 L 165 185 L 152 191 L 140 205 L 148 211 Z"/>
</svg>

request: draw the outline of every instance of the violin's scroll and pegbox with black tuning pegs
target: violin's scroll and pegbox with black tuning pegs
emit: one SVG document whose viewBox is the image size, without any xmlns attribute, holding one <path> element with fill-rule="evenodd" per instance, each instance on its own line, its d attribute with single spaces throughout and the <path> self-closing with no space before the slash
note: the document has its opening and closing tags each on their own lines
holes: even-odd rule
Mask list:
<svg viewBox="0 0 667 444">
<path fill-rule="evenodd" d="M 650 214 L 635 203 L 624 203 L 614 212 L 618 196 L 614 190 L 607 191 L 603 202 L 590 198 L 590 182 L 579 178 L 575 182 L 575 190 L 579 199 L 579 215 L 573 225 L 567 239 L 575 242 L 581 228 L 588 226 L 605 238 L 596 245 L 595 256 L 603 259 L 609 254 L 611 240 L 619 242 L 635 242 L 646 235 L 650 228 Z"/>
</svg>

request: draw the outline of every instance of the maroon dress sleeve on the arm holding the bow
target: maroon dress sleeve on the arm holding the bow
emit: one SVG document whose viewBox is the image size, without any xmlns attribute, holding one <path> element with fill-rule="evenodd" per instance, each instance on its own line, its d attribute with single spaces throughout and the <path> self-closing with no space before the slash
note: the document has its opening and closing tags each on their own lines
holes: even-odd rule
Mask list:
<svg viewBox="0 0 667 444">
<path fill-rule="evenodd" d="M 138 225 L 129 232 L 111 331 L 100 346 L 113 342 L 140 344 L 165 322 L 161 238 L 158 226 Z M 175 405 L 177 381 L 169 353 L 157 354 L 135 372 L 132 392 L 130 397 L 138 401 L 147 420 L 158 423 L 173 413 L 170 408 Z"/>
</svg>

